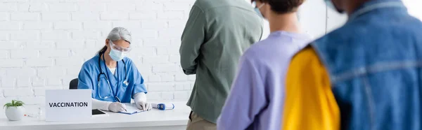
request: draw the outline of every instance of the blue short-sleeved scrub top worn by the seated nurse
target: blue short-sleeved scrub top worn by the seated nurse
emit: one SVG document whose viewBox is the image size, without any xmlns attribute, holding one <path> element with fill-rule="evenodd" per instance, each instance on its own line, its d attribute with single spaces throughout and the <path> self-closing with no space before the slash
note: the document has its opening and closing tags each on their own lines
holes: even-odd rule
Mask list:
<svg viewBox="0 0 422 130">
<path fill-rule="evenodd" d="M 127 57 L 124 57 L 124 63 L 122 61 L 117 62 L 118 68 L 116 69 L 115 75 L 107 68 L 104 61 L 100 60 L 99 65 L 101 65 L 102 72 L 107 75 L 112 90 L 110 91 L 110 87 L 108 87 L 108 82 L 105 78 L 106 76 L 103 74 L 100 76 L 98 85 L 98 75 L 101 73 L 99 70 L 100 67 L 98 66 L 98 58 L 99 56 L 96 55 L 82 65 L 78 76 L 78 89 L 92 89 L 92 98 L 100 101 L 116 102 L 115 96 L 117 96 L 122 103 L 130 103 L 133 96 L 139 92 L 146 93 L 146 87 L 143 85 L 141 73 L 139 73 L 138 68 L 133 64 L 132 60 Z M 127 68 L 127 79 L 124 79 L 124 64 L 126 64 Z M 127 80 L 129 84 L 124 85 L 124 80 Z M 103 99 L 100 96 L 103 98 L 108 96 L 108 98 Z"/>
</svg>

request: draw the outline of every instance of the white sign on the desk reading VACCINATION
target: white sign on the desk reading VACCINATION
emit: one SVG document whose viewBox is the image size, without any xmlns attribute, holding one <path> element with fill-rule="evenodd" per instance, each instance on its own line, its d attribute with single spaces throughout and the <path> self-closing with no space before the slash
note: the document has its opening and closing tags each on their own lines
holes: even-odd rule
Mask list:
<svg viewBox="0 0 422 130">
<path fill-rule="evenodd" d="M 92 116 L 91 89 L 46 90 L 46 121 L 80 121 Z"/>
</svg>

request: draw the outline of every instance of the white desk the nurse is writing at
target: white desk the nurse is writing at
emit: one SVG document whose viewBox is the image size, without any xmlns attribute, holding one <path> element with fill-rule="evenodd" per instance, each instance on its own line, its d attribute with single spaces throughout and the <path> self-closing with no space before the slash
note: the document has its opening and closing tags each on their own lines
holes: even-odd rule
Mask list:
<svg viewBox="0 0 422 130">
<path fill-rule="evenodd" d="M 186 102 L 174 102 L 174 110 L 153 109 L 148 112 L 125 115 L 110 113 L 93 116 L 91 120 L 81 122 L 46 122 L 36 117 L 25 117 L 21 121 L 10 122 L 0 118 L 1 130 L 52 130 L 52 129 L 86 129 L 86 130 L 184 130 L 191 108 Z"/>
</svg>

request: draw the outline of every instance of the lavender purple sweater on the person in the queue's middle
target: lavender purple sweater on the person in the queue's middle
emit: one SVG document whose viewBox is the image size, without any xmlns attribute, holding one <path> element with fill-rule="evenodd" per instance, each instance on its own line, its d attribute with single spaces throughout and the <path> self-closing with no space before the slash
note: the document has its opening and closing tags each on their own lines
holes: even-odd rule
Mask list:
<svg viewBox="0 0 422 130">
<path fill-rule="evenodd" d="M 307 34 L 275 31 L 252 45 L 241 57 L 217 129 L 281 129 L 286 69 L 309 41 Z"/>
</svg>

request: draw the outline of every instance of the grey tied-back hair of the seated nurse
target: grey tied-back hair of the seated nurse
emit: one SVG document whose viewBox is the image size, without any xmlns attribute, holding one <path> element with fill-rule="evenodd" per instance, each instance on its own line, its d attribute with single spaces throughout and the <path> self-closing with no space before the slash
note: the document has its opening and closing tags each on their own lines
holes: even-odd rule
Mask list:
<svg viewBox="0 0 422 130">
<path fill-rule="evenodd" d="M 132 43 L 132 34 L 130 34 L 130 32 L 127 31 L 127 29 L 125 29 L 124 27 L 115 27 L 110 31 L 110 34 L 108 34 L 107 39 L 113 42 L 122 39 L 130 44 Z M 101 48 L 100 51 L 98 51 L 98 54 L 106 52 L 106 50 L 107 46 L 104 45 L 104 47 Z"/>
</svg>

